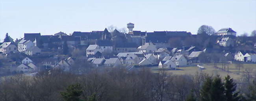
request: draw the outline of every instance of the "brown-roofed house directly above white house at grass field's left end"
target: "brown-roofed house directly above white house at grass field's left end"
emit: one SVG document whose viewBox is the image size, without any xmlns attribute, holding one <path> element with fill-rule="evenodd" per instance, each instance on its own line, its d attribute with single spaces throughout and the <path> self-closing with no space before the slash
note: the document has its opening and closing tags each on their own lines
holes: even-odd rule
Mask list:
<svg viewBox="0 0 256 101">
<path fill-rule="evenodd" d="M 167 48 L 159 48 L 154 52 L 154 56 L 157 59 L 162 60 L 164 57 L 170 56 L 170 53 L 171 52 L 167 50 Z"/>
</svg>

